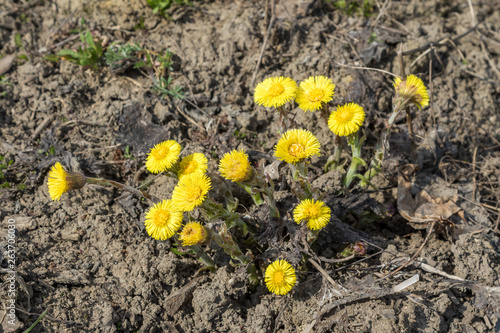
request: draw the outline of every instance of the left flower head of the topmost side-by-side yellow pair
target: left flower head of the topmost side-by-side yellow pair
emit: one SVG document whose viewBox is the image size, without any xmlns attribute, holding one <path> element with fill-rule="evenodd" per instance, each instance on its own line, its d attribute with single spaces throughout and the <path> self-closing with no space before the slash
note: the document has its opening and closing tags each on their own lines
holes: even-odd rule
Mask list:
<svg viewBox="0 0 500 333">
<path fill-rule="evenodd" d="M 265 107 L 279 107 L 295 98 L 297 83 L 289 77 L 270 77 L 255 87 L 255 103 Z"/>
</svg>

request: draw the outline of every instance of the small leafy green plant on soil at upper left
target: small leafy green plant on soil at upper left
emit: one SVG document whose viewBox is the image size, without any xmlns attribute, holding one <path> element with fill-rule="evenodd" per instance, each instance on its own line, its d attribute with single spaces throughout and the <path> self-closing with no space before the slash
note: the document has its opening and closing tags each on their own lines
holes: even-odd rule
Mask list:
<svg viewBox="0 0 500 333">
<path fill-rule="evenodd" d="M 79 47 L 77 51 L 61 50 L 57 55 L 85 69 L 99 69 L 103 58 L 102 42 L 100 40 L 94 42 L 94 38 L 89 30 L 85 34 L 80 33 L 80 39 L 83 44 L 86 44 L 84 47 Z"/>
</svg>

